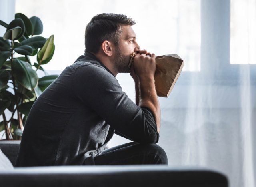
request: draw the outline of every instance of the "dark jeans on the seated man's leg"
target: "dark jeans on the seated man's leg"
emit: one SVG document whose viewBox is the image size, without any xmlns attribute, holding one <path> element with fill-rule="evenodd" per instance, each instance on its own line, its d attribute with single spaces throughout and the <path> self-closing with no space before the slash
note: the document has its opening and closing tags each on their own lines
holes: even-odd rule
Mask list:
<svg viewBox="0 0 256 187">
<path fill-rule="evenodd" d="M 168 160 L 164 149 L 159 145 L 125 143 L 94 157 L 95 165 L 136 165 L 136 164 L 165 164 Z"/>
</svg>

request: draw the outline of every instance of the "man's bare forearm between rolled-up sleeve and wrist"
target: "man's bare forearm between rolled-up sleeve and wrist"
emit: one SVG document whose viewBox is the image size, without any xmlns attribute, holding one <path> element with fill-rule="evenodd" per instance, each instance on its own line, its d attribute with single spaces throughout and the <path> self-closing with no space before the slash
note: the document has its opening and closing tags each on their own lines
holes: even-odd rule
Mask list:
<svg viewBox="0 0 256 187">
<path fill-rule="evenodd" d="M 155 81 L 154 78 L 144 79 L 140 78 L 139 81 L 140 90 L 140 107 L 149 108 L 155 119 L 158 133 L 160 132 L 160 104 L 156 94 Z"/>
</svg>

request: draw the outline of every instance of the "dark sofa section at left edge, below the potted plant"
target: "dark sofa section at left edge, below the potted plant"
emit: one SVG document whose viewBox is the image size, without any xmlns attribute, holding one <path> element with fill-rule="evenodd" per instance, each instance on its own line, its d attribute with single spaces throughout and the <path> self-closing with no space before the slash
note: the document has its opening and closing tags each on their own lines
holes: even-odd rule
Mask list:
<svg viewBox="0 0 256 187">
<path fill-rule="evenodd" d="M 0 148 L 14 166 L 20 149 L 20 140 L 1 140 Z"/>
</svg>

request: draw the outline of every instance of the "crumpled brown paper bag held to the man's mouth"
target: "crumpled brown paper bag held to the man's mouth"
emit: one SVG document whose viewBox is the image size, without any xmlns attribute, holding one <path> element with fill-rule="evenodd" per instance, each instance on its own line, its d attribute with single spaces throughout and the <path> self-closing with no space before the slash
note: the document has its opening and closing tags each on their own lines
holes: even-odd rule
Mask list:
<svg viewBox="0 0 256 187">
<path fill-rule="evenodd" d="M 180 72 L 184 61 L 177 54 L 156 56 L 155 85 L 159 97 L 168 97 Z"/>
</svg>

